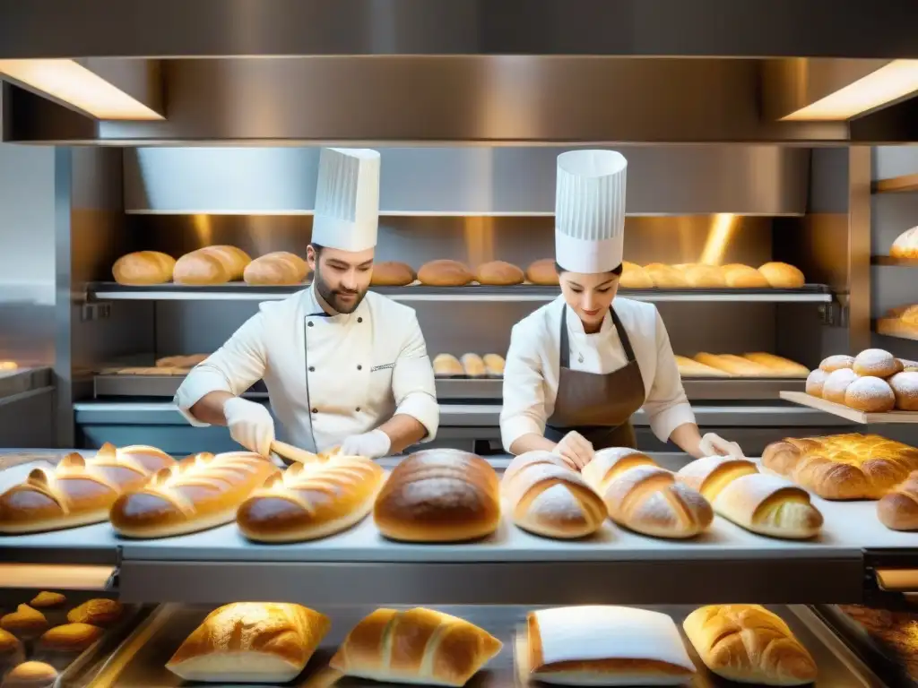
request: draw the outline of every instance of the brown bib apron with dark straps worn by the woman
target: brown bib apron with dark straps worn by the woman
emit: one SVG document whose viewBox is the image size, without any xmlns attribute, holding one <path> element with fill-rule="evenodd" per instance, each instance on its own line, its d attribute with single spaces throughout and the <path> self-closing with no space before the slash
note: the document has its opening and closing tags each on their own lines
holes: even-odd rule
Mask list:
<svg viewBox="0 0 918 688">
<path fill-rule="evenodd" d="M 576 430 L 592 443 L 593 449 L 636 448 L 631 416 L 644 405 L 644 378 L 619 316 L 612 307 L 609 312 L 628 362 L 617 371 L 602 374 L 570 369 L 567 306 L 561 311 L 558 394 L 554 399 L 554 413 L 545 427 L 545 438 L 553 442 L 561 441 L 568 432 Z"/>
</svg>

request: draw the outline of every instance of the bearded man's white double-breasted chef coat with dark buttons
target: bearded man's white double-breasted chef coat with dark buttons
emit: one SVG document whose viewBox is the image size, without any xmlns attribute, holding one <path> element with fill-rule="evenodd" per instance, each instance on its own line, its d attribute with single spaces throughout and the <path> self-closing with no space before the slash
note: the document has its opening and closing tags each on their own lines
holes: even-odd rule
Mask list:
<svg viewBox="0 0 918 688">
<path fill-rule="evenodd" d="M 201 397 L 239 395 L 264 380 L 285 438 L 323 451 L 395 414 L 417 418 L 430 440 L 440 423 L 433 368 L 414 309 L 368 292 L 351 314 L 328 316 L 310 287 L 269 301 L 197 365 L 175 394 L 189 409 Z"/>
</svg>

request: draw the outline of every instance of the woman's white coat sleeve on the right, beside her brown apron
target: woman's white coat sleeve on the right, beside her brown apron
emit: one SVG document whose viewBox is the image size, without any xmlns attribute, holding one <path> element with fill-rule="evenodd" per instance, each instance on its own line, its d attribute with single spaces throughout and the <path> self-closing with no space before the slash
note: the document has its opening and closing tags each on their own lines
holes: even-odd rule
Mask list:
<svg viewBox="0 0 918 688">
<path fill-rule="evenodd" d="M 682 387 L 676 356 L 659 311 L 656 312 L 656 372 L 644 401 L 644 413 L 650 419 L 650 428 L 655 436 L 663 442 L 680 425 L 695 422 L 695 414 Z"/>
</svg>

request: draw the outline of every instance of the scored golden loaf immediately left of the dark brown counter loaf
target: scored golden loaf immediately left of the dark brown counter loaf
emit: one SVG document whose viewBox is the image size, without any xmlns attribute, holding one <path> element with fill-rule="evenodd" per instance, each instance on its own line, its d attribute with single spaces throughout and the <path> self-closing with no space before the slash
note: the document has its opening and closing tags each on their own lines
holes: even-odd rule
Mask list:
<svg viewBox="0 0 918 688">
<path fill-rule="evenodd" d="M 299 542 L 352 527 L 370 513 L 386 472 L 362 456 L 295 463 L 242 503 L 236 522 L 256 542 Z"/>
</svg>

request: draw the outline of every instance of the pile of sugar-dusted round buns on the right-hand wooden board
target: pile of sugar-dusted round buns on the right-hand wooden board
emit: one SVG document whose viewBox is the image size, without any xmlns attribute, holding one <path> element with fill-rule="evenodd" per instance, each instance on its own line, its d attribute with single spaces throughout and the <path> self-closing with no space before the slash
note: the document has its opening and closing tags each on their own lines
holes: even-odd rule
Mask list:
<svg viewBox="0 0 918 688">
<path fill-rule="evenodd" d="M 830 356 L 810 373 L 806 392 L 865 413 L 918 411 L 918 365 L 882 349 Z"/>
</svg>

